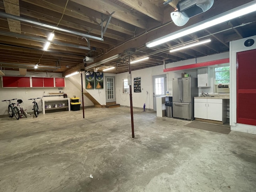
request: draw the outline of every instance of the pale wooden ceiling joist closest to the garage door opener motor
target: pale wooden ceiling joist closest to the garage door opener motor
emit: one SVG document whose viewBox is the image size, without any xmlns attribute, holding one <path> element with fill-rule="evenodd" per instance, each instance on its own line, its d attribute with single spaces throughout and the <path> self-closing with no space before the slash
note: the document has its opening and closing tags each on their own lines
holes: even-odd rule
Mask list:
<svg viewBox="0 0 256 192">
<path fill-rule="evenodd" d="M 148 0 L 118 0 L 135 10 L 142 12 L 143 14 L 157 20 L 163 21 L 163 11 Z"/>
</svg>

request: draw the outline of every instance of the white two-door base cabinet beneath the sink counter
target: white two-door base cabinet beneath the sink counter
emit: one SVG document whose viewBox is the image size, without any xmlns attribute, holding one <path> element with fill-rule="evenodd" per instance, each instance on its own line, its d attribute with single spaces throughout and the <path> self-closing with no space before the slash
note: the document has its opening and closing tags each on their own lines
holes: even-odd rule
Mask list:
<svg viewBox="0 0 256 192">
<path fill-rule="evenodd" d="M 194 99 L 194 117 L 226 122 L 227 101 L 224 99 Z"/>
</svg>

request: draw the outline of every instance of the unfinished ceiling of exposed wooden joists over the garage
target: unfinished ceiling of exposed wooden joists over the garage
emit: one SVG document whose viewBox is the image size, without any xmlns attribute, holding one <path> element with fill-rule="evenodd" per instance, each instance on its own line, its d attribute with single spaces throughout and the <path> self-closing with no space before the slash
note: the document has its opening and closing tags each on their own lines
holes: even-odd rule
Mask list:
<svg viewBox="0 0 256 192">
<path fill-rule="evenodd" d="M 130 48 L 135 48 L 130 52 L 132 59 L 150 57 L 132 64 L 132 70 L 228 52 L 230 41 L 256 35 L 256 12 L 154 48 L 145 44 L 248 2 L 251 0 L 215 0 L 210 10 L 178 27 L 170 18 L 178 0 L 166 6 L 164 0 L 0 0 L 0 66 L 2 70 L 26 68 L 68 74 L 83 69 L 86 56 L 94 58 L 94 62 L 86 64 L 88 67 L 120 54 L 120 58 L 98 66 L 98 71 L 115 66 L 108 72 L 117 74 L 128 71 Z M 51 32 L 54 40 L 44 51 Z M 206 38 L 212 41 L 178 52 L 168 51 Z M 36 64 L 38 68 L 34 69 Z"/>
</svg>

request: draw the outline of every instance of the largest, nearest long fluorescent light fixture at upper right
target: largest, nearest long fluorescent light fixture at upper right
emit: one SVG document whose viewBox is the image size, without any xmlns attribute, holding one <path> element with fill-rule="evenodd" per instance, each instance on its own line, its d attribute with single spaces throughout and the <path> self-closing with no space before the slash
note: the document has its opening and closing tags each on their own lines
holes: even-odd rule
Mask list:
<svg viewBox="0 0 256 192">
<path fill-rule="evenodd" d="M 199 22 L 198 24 L 194 24 L 192 26 L 186 27 L 182 30 L 179 30 L 177 32 L 173 32 L 171 34 L 162 36 L 161 38 L 157 38 L 153 41 L 147 42 L 146 47 L 154 47 L 160 44 L 163 44 L 165 42 L 186 36 L 188 34 L 192 34 L 194 32 L 212 27 L 214 25 L 226 22 L 228 20 L 246 15 L 248 13 L 256 11 L 256 1 L 249 2 L 247 4 L 244 4 L 242 6 L 236 7 L 232 10 L 229 10 L 227 12 L 224 12 L 222 14 L 219 14 L 217 16 L 214 16 L 212 18 L 209 18 L 207 20 L 204 20 L 202 22 Z"/>
</svg>

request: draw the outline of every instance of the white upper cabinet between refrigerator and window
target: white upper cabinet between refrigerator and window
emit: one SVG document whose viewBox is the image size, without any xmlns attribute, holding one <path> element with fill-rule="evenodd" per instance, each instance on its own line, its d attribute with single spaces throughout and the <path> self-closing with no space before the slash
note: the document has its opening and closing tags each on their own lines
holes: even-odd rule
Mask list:
<svg viewBox="0 0 256 192">
<path fill-rule="evenodd" d="M 197 70 L 198 87 L 210 87 L 210 68 L 199 68 Z"/>
</svg>

